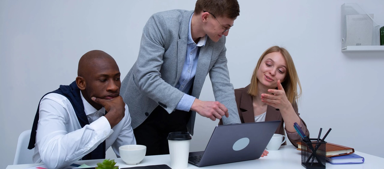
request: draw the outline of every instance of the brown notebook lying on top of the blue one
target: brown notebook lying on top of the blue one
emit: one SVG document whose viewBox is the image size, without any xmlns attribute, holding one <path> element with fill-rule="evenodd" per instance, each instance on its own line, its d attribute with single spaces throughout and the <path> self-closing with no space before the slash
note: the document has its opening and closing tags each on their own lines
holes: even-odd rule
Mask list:
<svg viewBox="0 0 384 169">
<path fill-rule="evenodd" d="M 298 142 L 298 150 L 301 151 L 301 142 Z M 336 157 L 352 154 L 355 152 L 353 148 L 341 146 L 339 144 L 326 143 L 325 144 L 325 156 L 326 157 Z"/>
</svg>

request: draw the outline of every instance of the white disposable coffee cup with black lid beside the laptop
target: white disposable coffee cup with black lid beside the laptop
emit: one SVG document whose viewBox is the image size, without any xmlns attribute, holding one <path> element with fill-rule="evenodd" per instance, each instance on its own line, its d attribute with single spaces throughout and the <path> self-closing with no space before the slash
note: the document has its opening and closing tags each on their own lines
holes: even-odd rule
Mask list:
<svg viewBox="0 0 384 169">
<path fill-rule="evenodd" d="M 168 134 L 170 167 L 185 169 L 188 167 L 189 144 L 192 139 L 188 132 L 172 132 Z"/>
</svg>

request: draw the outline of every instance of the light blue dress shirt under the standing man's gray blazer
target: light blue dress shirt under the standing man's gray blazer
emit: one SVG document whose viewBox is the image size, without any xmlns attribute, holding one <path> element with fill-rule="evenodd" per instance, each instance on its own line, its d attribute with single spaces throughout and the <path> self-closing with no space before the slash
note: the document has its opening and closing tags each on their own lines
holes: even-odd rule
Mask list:
<svg viewBox="0 0 384 169">
<path fill-rule="evenodd" d="M 189 90 L 192 87 L 193 80 L 196 74 L 200 46 L 204 46 L 205 42 L 207 41 L 207 35 L 201 37 L 197 44 L 193 41 L 191 34 L 192 16 L 189 19 L 187 54 L 185 56 L 183 71 L 181 72 L 180 79 L 175 86 L 177 89 L 185 93 L 184 96 L 181 98 L 180 102 L 177 104 L 176 109 L 183 110 L 185 112 L 189 112 L 196 98 L 189 95 Z"/>
</svg>

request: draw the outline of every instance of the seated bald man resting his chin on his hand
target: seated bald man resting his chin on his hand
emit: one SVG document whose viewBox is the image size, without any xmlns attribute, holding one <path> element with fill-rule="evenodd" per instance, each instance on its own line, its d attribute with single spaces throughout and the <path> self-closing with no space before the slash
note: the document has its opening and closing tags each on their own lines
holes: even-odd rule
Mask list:
<svg viewBox="0 0 384 169">
<path fill-rule="evenodd" d="M 79 159 L 104 159 L 111 146 L 120 157 L 119 146 L 136 144 L 120 85 L 113 57 L 98 50 L 84 54 L 76 80 L 40 100 L 28 146 L 35 147 L 33 162 L 62 168 Z"/>
</svg>

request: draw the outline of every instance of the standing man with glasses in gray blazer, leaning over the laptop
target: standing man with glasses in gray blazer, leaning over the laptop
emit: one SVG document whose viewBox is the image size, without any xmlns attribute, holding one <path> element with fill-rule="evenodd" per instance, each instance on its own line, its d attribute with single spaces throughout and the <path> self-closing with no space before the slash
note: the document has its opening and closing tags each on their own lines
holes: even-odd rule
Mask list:
<svg viewBox="0 0 384 169">
<path fill-rule="evenodd" d="M 237 0 L 197 0 L 194 11 L 163 11 L 147 21 L 139 56 L 121 86 L 146 155 L 169 154 L 170 132 L 193 135 L 196 112 L 241 123 L 225 56 L 225 36 L 239 13 Z M 216 102 L 199 100 L 208 73 Z"/>
</svg>

